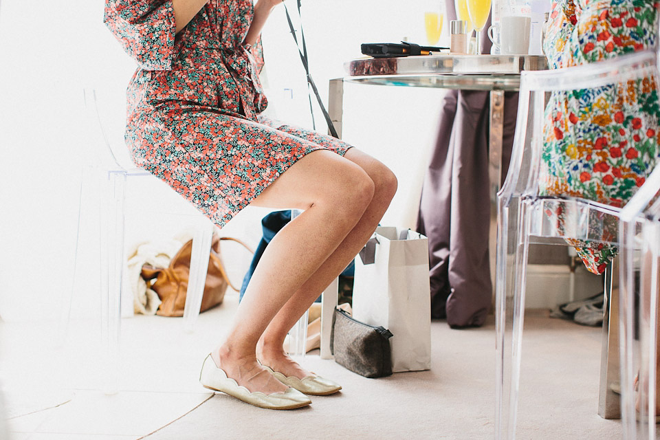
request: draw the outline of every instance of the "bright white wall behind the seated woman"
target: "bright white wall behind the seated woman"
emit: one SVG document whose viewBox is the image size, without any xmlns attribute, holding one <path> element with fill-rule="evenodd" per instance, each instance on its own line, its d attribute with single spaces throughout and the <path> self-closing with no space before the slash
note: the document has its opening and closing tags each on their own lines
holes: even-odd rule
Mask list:
<svg viewBox="0 0 660 440">
<path fill-rule="evenodd" d="M 98 90 L 111 143 L 122 148 L 124 89 L 134 65 L 103 27 L 102 9 L 100 0 L 1 3 L 0 316 L 5 320 L 56 318 L 61 296 L 70 292 L 80 170 L 102 148 L 96 128 L 85 119 L 83 88 Z M 421 1 L 305 1 L 303 19 L 312 74 L 324 99 L 327 80 L 342 76 L 344 61 L 360 56 L 360 43 L 423 39 Z M 282 7 L 267 24 L 264 43 L 268 92 L 278 117 L 309 126 L 303 70 Z M 284 89 L 294 89 L 293 102 L 283 100 Z M 414 223 L 440 98 L 441 91 L 428 89 L 346 89 L 344 138 L 382 159 L 399 177 L 386 224 Z M 174 234 L 179 220 L 152 214 L 151 207 L 171 206 L 177 197 L 157 184 L 131 188 L 127 245 L 155 233 Z M 95 211 L 87 198 L 83 201 L 76 314 L 98 305 Z M 223 232 L 256 243 L 263 214 L 246 210 Z M 237 267 L 236 276 L 243 269 Z"/>
</svg>

